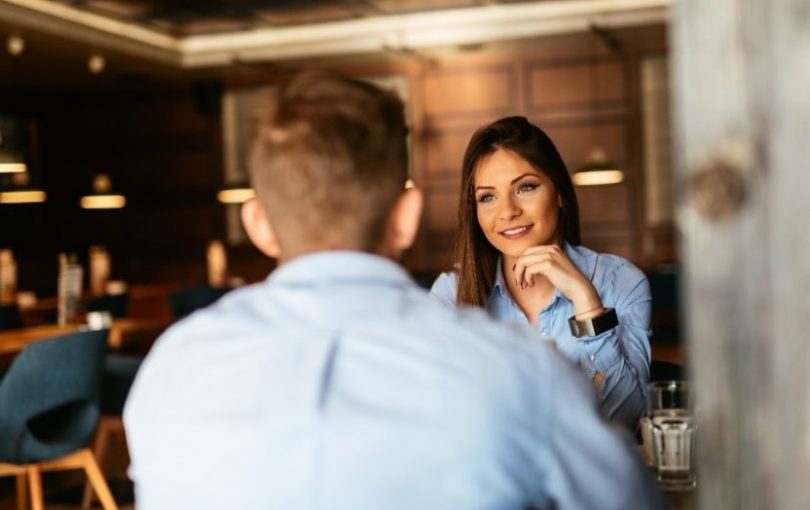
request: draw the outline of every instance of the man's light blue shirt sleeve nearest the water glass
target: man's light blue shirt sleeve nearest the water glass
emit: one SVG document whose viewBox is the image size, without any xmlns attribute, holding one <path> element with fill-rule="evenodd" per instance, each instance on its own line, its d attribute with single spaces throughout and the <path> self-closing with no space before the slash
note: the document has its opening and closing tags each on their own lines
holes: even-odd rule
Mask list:
<svg viewBox="0 0 810 510">
<path fill-rule="evenodd" d="M 550 370 L 554 381 L 548 406 L 538 409 L 540 423 L 548 427 L 539 452 L 545 490 L 533 505 L 571 510 L 668 508 L 629 437 L 598 413 L 589 382 L 567 363 L 556 363 Z"/>
</svg>

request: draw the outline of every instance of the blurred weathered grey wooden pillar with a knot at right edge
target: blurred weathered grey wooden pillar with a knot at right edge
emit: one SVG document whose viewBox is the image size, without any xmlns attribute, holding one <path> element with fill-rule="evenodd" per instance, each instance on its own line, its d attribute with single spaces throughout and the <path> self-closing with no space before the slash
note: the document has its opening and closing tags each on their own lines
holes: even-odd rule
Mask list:
<svg viewBox="0 0 810 510">
<path fill-rule="evenodd" d="M 673 3 L 703 509 L 810 504 L 810 1 Z"/>
</svg>

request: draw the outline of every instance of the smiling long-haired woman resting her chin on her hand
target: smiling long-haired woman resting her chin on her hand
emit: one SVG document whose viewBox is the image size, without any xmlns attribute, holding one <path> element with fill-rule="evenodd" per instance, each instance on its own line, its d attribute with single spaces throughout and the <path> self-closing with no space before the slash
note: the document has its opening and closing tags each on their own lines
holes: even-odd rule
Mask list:
<svg viewBox="0 0 810 510">
<path fill-rule="evenodd" d="M 649 380 L 644 273 L 580 245 L 565 164 L 548 136 L 524 117 L 479 129 L 462 172 L 458 265 L 439 276 L 431 293 L 553 336 L 594 382 L 604 414 L 634 431 Z"/>
</svg>

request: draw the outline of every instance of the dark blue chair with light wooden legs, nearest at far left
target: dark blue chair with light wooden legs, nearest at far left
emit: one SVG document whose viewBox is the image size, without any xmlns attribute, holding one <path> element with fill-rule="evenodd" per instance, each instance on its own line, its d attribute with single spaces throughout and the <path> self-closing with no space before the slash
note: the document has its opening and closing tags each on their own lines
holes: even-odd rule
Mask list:
<svg viewBox="0 0 810 510">
<path fill-rule="evenodd" d="M 42 510 L 41 473 L 84 469 L 105 510 L 117 509 L 87 444 L 99 419 L 107 331 L 34 342 L 0 382 L 0 476 L 16 476 L 18 506 L 26 479 L 32 510 Z"/>
</svg>

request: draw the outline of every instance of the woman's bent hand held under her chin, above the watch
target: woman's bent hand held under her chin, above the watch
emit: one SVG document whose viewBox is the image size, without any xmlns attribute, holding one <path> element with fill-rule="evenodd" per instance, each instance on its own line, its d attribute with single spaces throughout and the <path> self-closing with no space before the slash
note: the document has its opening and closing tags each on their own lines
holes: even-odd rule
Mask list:
<svg viewBox="0 0 810 510">
<path fill-rule="evenodd" d="M 574 305 L 578 319 L 602 313 L 602 301 L 591 282 L 557 245 L 533 246 L 523 252 L 514 266 L 515 283 L 526 289 L 534 278 L 543 276 Z"/>
</svg>

